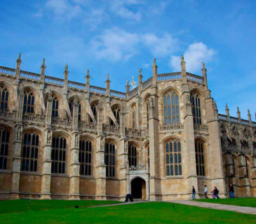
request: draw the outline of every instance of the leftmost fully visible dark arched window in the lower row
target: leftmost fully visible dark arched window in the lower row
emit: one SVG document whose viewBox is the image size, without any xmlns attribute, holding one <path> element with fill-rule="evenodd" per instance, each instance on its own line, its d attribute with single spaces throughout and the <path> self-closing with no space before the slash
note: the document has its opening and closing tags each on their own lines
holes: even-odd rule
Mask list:
<svg viewBox="0 0 256 224">
<path fill-rule="evenodd" d="M 37 171 L 38 149 L 39 135 L 37 133 L 25 133 L 22 141 L 21 170 Z"/>
</svg>

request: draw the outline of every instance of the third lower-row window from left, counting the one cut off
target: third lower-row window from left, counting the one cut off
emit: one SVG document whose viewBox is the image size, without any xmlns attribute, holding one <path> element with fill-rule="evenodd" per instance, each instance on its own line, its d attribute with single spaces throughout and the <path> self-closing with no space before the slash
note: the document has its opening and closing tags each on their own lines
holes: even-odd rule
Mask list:
<svg viewBox="0 0 256 224">
<path fill-rule="evenodd" d="M 52 173 L 65 173 L 66 139 L 62 136 L 52 138 Z"/>
</svg>

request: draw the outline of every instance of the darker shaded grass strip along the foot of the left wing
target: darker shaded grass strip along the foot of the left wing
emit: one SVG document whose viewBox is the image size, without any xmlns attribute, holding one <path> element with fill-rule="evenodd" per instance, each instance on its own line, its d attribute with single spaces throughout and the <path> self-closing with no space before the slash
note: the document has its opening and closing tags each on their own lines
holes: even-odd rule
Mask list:
<svg viewBox="0 0 256 224">
<path fill-rule="evenodd" d="M 117 204 L 116 201 L 97 200 L 6 200 L 0 201 L 0 214 L 42 211 L 52 209 L 72 209 L 75 205 L 88 207 L 94 205 Z"/>
</svg>

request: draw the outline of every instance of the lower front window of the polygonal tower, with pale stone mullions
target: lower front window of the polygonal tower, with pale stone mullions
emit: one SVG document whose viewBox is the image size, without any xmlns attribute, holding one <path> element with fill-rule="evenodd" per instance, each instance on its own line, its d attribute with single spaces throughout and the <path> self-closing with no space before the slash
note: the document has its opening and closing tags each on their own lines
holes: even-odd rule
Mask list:
<svg viewBox="0 0 256 224">
<path fill-rule="evenodd" d="M 182 175 L 181 146 L 179 140 L 169 140 L 165 143 L 166 175 Z"/>
</svg>

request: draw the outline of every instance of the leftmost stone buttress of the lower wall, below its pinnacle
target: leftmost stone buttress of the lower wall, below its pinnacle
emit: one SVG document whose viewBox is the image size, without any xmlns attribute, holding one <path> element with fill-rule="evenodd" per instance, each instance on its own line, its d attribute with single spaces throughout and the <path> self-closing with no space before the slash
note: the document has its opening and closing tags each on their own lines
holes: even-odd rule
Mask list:
<svg viewBox="0 0 256 224">
<path fill-rule="evenodd" d="M 15 127 L 15 141 L 13 143 L 13 157 L 12 157 L 12 186 L 10 192 L 10 199 L 19 199 L 19 184 L 20 184 L 20 149 L 22 142 L 22 124 L 17 124 Z"/>
</svg>

